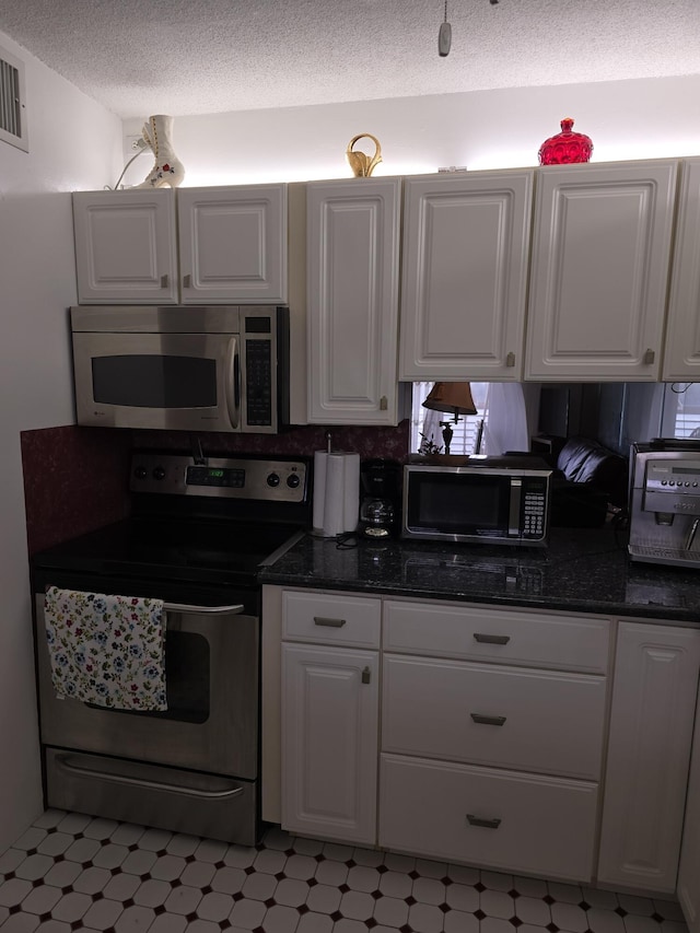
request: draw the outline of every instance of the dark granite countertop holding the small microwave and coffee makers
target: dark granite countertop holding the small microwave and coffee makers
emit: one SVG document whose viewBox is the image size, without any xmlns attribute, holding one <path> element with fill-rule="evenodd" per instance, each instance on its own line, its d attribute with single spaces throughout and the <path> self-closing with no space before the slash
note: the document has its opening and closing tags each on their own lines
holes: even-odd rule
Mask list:
<svg viewBox="0 0 700 933">
<path fill-rule="evenodd" d="M 360 540 L 305 535 L 265 584 L 637 616 L 700 626 L 700 570 L 632 563 L 612 527 L 552 528 L 547 548 Z"/>
</svg>

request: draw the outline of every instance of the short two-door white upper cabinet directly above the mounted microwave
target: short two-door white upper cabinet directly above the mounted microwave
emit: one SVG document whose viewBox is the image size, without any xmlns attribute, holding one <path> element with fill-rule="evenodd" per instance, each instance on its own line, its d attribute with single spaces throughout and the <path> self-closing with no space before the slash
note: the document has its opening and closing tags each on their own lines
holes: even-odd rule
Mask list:
<svg viewBox="0 0 700 933">
<path fill-rule="evenodd" d="M 287 194 L 283 184 L 73 194 L 78 300 L 287 304 Z"/>
</svg>

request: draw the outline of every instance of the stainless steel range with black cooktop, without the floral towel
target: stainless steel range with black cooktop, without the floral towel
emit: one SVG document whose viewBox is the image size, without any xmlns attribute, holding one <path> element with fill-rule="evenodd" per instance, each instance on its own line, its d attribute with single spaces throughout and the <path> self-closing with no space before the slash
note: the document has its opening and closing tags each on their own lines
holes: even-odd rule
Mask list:
<svg viewBox="0 0 700 933">
<path fill-rule="evenodd" d="M 49 806 L 253 844 L 259 824 L 259 565 L 310 520 L 303 458 L 135 454 L 133 515 L 33 559 Z M 165 712 L 57 699 L 47 586 L 165 600 Z"/>
</svg>

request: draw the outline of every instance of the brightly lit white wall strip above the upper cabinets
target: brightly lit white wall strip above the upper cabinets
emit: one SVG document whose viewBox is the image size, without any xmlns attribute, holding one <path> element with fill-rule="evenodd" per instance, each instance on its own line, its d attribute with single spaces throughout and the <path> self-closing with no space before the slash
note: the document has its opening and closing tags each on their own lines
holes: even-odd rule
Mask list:
<svg viewBox="0 0 700 933">
<path fill-rule="evenodd" d="M 375 175 L 536 165 L 567 116 L 593 139 L 595 162 L 697 155 L 700 120 L 688 102 L 699 97 L 697 75 L 247 110 L 177 117 L 174 143 L 185 185 L 348 177 L 346 148 L 360 132 L 382 144 Z M 141 123 L 125 123 L 127 141 Z M 368 140 L 361 148 L 372 149 Z M 152 164 L 147 150 L 124 184 L 142 182 Z"/>
</svg>

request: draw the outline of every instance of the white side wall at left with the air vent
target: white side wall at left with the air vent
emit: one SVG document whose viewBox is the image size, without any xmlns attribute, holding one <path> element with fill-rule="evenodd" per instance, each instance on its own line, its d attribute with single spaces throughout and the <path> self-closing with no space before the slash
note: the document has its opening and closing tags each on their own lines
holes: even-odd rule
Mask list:
<svg viewBox="0 0 700 933">
<path fill-rule="evenodd" d="M 28 154 L 0 142 L 1 852 L 42 809 L 20 432 L 74 421 L 69 193 L 115 183 L 121 125 L 2 33 L 0 47 L 26 63 L 30 139 Z"/>
</svg>

